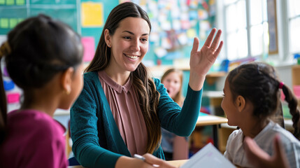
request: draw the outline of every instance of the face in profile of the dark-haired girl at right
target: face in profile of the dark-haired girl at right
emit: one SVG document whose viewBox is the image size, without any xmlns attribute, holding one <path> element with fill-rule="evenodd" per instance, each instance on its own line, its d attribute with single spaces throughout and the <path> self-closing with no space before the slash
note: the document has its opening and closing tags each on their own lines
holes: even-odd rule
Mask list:
<svg viewBox="0 0 300 168">
<path fill-rule="evenodd" d="M 236 106 L 234 104 L 234 99 L 233 99 L 233 95 L 231 94 L 231 90 L 229 88 L 228 79 L 226 79 L 225 81 L 223 92 L 224 92 L 224 97 L 221 106 L 224 113 L 227 116 L 228 125 L 236 126 L 238 121 L 238 113 L 237 113 L 238 110 L 236 109 Z"/>
</svg>

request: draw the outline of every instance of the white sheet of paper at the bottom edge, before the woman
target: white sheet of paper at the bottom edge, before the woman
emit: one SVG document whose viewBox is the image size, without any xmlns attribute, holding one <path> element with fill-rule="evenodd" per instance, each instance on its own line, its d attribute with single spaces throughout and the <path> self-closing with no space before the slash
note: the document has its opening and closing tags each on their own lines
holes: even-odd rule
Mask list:
<svg viewBox="0 0 300 168">
<path fill-rule="evenodd" d="M 180 168 L 198 168 L 198 167 L 210 167 L 210 168 L 236 168 L 229 160 L 217 151 L 217 148 L 212 144 L 207 144 L 200 151 L 185 162 Z"/>
</svg>

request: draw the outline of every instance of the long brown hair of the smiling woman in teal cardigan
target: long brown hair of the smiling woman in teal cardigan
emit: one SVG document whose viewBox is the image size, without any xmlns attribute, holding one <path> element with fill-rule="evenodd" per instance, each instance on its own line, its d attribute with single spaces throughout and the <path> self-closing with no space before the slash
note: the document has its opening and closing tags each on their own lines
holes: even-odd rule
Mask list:
<svg viewBox="0 0 300 168">
<path fill-rule="evenodd" d="M 115 29 L 119 27 L 119 23 L 128 17 L 142 18 L 148 22 L 151 30 L 148 15 L 141 7 L 132 2 L 120 3 L 108 15 L 94 58 L 87 66 L 87 69 L 85 69 L 85 72 L 101 71 L 108 66 L 111 50 L 105 42 L 104 31 L 108 29 L 110 36 L 113 36 Z M 162 137 L 160 122 L 157 116 L 160 94 L 156 90 L 154 81 L 150 78 L 148 69 L 142 63 L 138 65 L 135 71 L 131 72 L 131 77 L 133 78 L 134 88 L 138 93 L 138 101 L 147 127 L 148 142 L 145 152 L 153 153 L 159 147 Z"/>
</svg>

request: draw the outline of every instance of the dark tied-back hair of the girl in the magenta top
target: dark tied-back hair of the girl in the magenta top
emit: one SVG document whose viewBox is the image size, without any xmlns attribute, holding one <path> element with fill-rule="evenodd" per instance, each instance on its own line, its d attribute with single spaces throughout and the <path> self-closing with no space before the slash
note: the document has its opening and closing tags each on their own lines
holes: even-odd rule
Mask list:
<svg viewBox="0 0 300 168">
<path fill-rule="evenodd" d="M 46 85 L 60 71 L 71 66 L 76 69 L 83 59 L 83 45 L 68 25 L 38 15 L 20 22 L 8 33 L 8 41 L 0 48 L 0 60 L 4 56 L 10 78 L 26 95 Z M 2 78 L 0 83 L 2 141 L 6 135 L 7 106 Z"/>
</svg>

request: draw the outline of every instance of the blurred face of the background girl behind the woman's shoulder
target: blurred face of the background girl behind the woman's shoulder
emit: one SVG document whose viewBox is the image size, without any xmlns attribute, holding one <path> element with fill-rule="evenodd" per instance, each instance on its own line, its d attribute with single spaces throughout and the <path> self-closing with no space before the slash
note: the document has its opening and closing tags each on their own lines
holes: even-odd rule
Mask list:
<svg viewBox="0 0 300 168">
<path fill-rule="evenodd" d="M 175 71 L 169 73 L 162 81 L 162 84 L 164 84 L 164 87 L 166 87 L 166 91 L 169 93 L 169 96 L 174 99 L 181 88 L 179 74 Z"/>
</svg>

